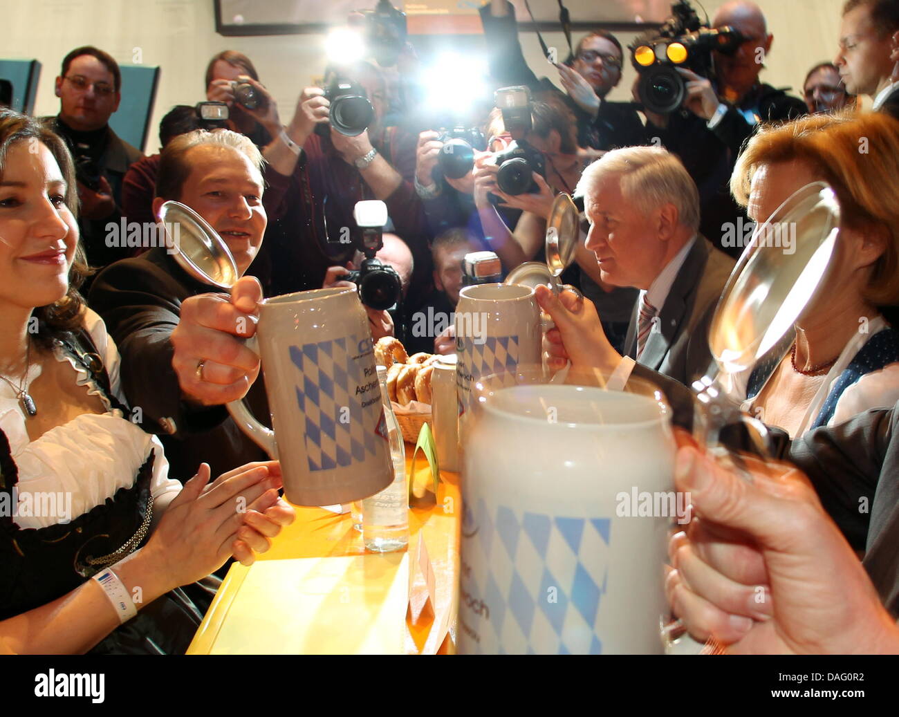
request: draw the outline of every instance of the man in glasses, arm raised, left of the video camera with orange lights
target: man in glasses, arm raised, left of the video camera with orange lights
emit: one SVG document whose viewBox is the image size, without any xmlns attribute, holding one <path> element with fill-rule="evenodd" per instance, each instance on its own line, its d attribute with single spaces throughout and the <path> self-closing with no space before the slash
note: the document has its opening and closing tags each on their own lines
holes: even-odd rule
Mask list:
<svg viewBox="0 0 899 717">
<path fill-rule="evenodd" d="M 497 86 L 523 84 L 532 93 L 554 93 L 574 112 L 577 144 L 596 150 L 645 144 L 643 123 L 628 102 L 605 99 L 621 81 L 624 52 L 619 40 L 607 31 L 585 36 L 565 64 L 556 64 L 560 93 L 548 77 L 541 79 L 521 53 L 515 11 L 508 0 L 491 0 L 481 10 L 491 74 Z"/>
</svg>

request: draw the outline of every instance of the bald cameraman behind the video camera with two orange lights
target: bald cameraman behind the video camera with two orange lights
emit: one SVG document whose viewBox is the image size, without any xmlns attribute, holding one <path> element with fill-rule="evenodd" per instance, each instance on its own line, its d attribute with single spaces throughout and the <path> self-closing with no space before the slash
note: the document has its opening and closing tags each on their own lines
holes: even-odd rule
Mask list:
<svg viewBox="0 0 899 717">
<path fill-rule="evenodd" d="M 691 11 L 689 5 L 675 5 L 675 10 Z M 713 27 L 726 26 L 738 31 L 743 41 L 732 55 L 712 53 L 714 76 L 677 69 L 686 81 L 683 111 L 670 115 L 645 111 L 645 115 L 648 136 L 659 137 L 663 146 L 679 155 L 699 186 L 701 232 L 725 252 L 739 256 L 743 246 L 725 246 L 717 237 L 722 225 L 742 216 L 728 186 L 740 148 L 761 122 L 795 119 L 806 114 L 806 104 L 759 80 L 774 38 L 758 5 L 744 0 L 723 5 Z"/>
</svg>

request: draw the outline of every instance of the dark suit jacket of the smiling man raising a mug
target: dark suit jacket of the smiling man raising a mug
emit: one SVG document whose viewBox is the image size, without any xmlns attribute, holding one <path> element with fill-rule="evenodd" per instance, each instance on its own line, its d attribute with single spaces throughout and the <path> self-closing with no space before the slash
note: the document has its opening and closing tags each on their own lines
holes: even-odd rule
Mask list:
<svg viewBox="0 0 899 717">
<path fill-rule="evenodd" d="M 215 290 L 191 279 L 160 248 L 111 264 L 96 277 L 90 293 L 89 304 L 119 348 L 122 390 L 129 404 L 140 408 L 143 428 L 161 434 L 170 474 L 179 480 L 190 478 L 204 461 L 216 477 L 268 458 L 224 407 L 192 406 L 181 398 L 172 367 L 172 332 L 184 299 Z M 246 400 L 260 420 L 269 422 L 262 380 Z"/>
</svg>

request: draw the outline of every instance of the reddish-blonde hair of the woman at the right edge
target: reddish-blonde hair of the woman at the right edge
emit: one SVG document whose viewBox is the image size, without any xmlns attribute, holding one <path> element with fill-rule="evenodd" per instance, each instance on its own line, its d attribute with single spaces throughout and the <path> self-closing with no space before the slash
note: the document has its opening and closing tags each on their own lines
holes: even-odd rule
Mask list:
<svg viewBox="0 0 899 717">
<path fill-rule="evenodd" d="M 752 175 L 763 164 L 804 162 L 840 201 L 841 224 L 886 231 L 864 297 L 874 305 L 899 302 L 899 123 L 881 112 L 809 115 L 762 128 L 740 155 L 731 176 L 734 199 L 749 202 Z"/>
</svg>

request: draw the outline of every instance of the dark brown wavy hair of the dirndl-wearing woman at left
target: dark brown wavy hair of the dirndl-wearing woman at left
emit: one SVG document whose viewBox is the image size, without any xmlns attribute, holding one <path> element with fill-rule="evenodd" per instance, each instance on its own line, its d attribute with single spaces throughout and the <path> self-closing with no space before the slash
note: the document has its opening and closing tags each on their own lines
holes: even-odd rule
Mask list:
<svg viewBox="0 0 899 717">
<path fill-rule="evenodd" d="M 66 205 L 77 217 L 78 193 L 75 181 L 75 164 L 68 153 L 66 143 L 57 135 L 45 128 L 37 120 L 13 110 L 0 110 L 0 178 L 3 177 L 6 155 L 11 146 L 22 141 L 38 141 L 47 146 L 50 154 L 56 159 L 63 179 L 66 181 Z M 85 252 L 79 239 L 76 244 L 75 259 L 68 270 L 68 291 L 65 297 L 55 304 L 38 306 L 31 312 L 45 330 L 35 334 L 40 346 L 49 348 L 53 339 L 65 332 L 79 328 L 85 300 L 78 292 L 89 273 Z"/>
</svg>

